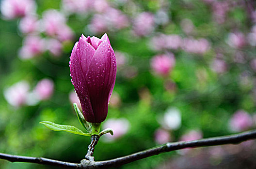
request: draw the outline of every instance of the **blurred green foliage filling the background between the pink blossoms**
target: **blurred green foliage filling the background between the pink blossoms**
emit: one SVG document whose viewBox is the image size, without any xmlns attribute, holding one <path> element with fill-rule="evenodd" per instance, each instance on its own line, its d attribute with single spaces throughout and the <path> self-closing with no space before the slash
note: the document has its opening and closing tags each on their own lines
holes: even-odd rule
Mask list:
<svg viewBox="0 0 256 169">
<path fill-rule="evenodd" d="M 160 127 L 157 118 L 165 113 L 170 106 L 178 108 L 182 115 L 182 126 L 173 131 L 174 141 L 189 129 L 201 129 L 205 138 L 229 134 L 228 120 L 237 110 L 243 109 L 249 113 L 255 112 L 255 97 L 253 86 L 240 86 L 240 73 L 250 70 L 249 64 L 233 63 L 234 51 L 225 42 L 227 33 L 233 25 L 244 31 L 249 31 L 250 24 L 246 12 L 235 8 L 228 16 L 230 19 L 224 25 L 217 25 L 211 16 L 209 6 L 200 0 L 170 0 L 169 17 L 171 22 L 158 27 L 157 32 L 165 34 L 180 34 L 180 20 L 191 19 L 195 26 L 196 37 L 207 38 L 214 48 L 225 51 L 229 63 L 229 71 L 217 74 L 210 68 L 210 61 L 215 57 L 214 48 L 204 56 L 189 54 L 181 50 L 175 51 L 176 65 L 168 79 L 176 83 L 176 91 L 165 90 L 162 77 L 152 73 L 150 59 L 158 53 L 152 50 L 148 42 L 151 37 L 131 39 L 129 29 L 118 32 L 107 32 L 115 51 L 127 54 L 128 64 L 138 69 L 134 78 L 128 79 L 117 71 L 114 92 L 122 100 L 120 107 L 109 107 L 107 118 L 125 117 L 131 124 L 126 135 L 112 141 L 99 141 L 96 146 L 96 160 L 107 160 L 122 155 L 128 155 L 144 150 L 157 143 L 154 132 Z M 138 0 L 141 12 L 154 13 L 160 7 L 158 0 Z M 59 9 L 60 0 L 37 0 L 38 14 L 47 9 Z M 64 54 L 60 58 L 50 57 L 48 53 L 31 60 L 20 60 L 17 57 L 18 48 L 22 44 L 22 36 L 17 33 L 17 20 L 0 19 L 0 152 L 44 156 L 62 161 L 79 162 L 87 152 L 90 139 L 65 132 L 53 132 L 39 125 L 40 121 L 52 121 L 63 125 L 73 125 L 82 128 L 69 102 L 68 94 L 73 89 L 69 76 L 69 56 L 73 44 L 78 41 L 81 33 L 88 35 L 85 26 L 87 19 L 71 15 L 68 25 L 75 30 L 74 42 L 64 44 Z M 101 35 L 96 35 L 100 37 Z M 230 50 L 228 50 L 230 49 Z M 247 51 L 248 52 L 247 52 Z M 255 49 L 244 49 L 249 58 L 255 56 Z M 129 70 L 128 70 L 129 71 Z M 204 71 L 206 79 L 200 82 L 196 72 Z M 252 72 L 255 75 L 254 72 Z M 51 99 L 36 106 L 13 108 L 3 97 L 3 90 L 20 81 L 27 80 L 35 85 L 42 78 L 54 81 L 55 90 Z M 252 76 L 253 77 L 253 76 Z M 148 89 L 147 99 L 140 96 L 142 89 Z M 162 161 L 176 153 L 156 155 L 144 160 L 125 165 L 129 168 L 156 168 Z M 54 167 L 9 163 L 0 160 L 1 169 L 48 169 Z"/>
</svg>

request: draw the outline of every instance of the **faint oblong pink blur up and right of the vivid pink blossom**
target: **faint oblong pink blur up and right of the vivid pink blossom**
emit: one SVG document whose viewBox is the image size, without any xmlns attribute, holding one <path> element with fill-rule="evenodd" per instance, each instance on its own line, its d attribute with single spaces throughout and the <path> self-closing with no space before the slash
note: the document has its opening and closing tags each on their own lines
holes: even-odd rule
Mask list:
<svg viewBox="0 0 256 169">
<path fill-rule="evenodd" d="M 204 54 L 210 49 L 209 42 L 204 38 L 198 40 L 185 38 L 182 46 L 186 52 L 194 54 Z"/>
</svg>

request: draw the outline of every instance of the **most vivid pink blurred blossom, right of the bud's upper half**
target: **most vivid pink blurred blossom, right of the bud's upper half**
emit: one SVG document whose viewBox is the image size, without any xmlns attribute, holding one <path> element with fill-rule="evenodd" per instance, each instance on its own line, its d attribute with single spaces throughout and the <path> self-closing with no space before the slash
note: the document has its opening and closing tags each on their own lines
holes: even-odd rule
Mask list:
<svg viewBox="0 0 256 169">
<path fill-rule="evenodd" d="M 161 76 L 168 75 L 173 70 L 174 65 L 175 57 L 172 53 L 154 56 L 151 59 L 151 68 Z"/>
</svg>

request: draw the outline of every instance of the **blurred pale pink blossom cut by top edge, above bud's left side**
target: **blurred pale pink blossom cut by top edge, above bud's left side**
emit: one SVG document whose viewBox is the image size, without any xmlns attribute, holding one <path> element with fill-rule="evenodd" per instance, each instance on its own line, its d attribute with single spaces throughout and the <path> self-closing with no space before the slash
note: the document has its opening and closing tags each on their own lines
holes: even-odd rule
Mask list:
<svg viewBox="0 0 256 169">
<path fill-rule="evenodd" d="M 64 11 L 70 13 L 84 14 L 90 11 L 93 6 L 92 0 L 63 0 L 62 6 Z"/>
</svg>

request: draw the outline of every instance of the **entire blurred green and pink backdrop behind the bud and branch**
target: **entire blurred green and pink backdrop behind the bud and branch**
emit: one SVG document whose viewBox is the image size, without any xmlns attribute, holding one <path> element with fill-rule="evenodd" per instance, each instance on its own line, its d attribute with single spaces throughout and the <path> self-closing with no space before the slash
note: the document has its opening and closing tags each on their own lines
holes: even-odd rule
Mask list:
<svg viewBox="0 0 256 169">
<path fill-rule="evenodd" d="M 70 80 L 76 41 L 108 34 L 117 77 L 96 160 L 256 127 L 254 0 L 0 0 L 0 152 L 80 162 L 90 139 Z M 256 168 L 256 145 L 186 149 L 120 168 Z M 0 169 L 48 169 L 0 160 Z"/>
</svg>

